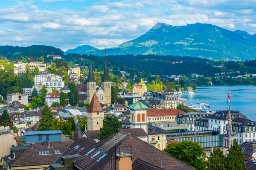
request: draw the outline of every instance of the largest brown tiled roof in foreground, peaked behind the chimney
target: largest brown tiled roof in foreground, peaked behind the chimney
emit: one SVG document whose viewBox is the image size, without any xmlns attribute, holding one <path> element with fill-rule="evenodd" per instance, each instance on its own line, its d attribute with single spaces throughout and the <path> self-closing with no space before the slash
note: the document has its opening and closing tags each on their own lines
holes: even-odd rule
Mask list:
<svg viewBox="0 0 256 170">
<path fill-rule="evenodd" d="M 148 144 L 147 142 L 144 142 L 143 140 L 138 139 L 137 137 L 122 131 L 119 133 L 116 133 L 115 135 L 107 139 L 104 139 L 94 144 L 91 147 L 84 149 L 82 153 L 79 153 L 82 156 L 74 162 L 74 165 L 84 170 L 110 169 L 109 158 L 113 157 L 114 154 L 119 153 L 119 150 L 116 151 L 116 153 L 111 152 L 111 150 L 113 150 L 115 146 L 121 147 L 121 146 L 127 146 L 127 145 L 133 146 L 132 147 L 133 160 L 141 159 L 156 167 L 161 167 L 161 164 L 162 164 L 162 168 L 166 170 L 172 170 L 172 169 L 193 170 L 192 167 L 183 163 L 182 161 L 175 159 L 174 157 L 169 156 L 168 154 L 157 149 L 151 144 Z M 89 152 L 93 148 L 96 148 L 96 149 L 93 150 L 90 154 L 88 155 L 84 154 Z M 97 156 L 95 156 L 95 158 L 91 157 L 99 151 L 101 152 Z M 124 151 L 125 153 L 127 153 L 126 147 L 123 150 L 121 149 L 120 151 Z M 97 161 L 97 159 L 99 159 L 105 153 L 107 153 L 108 156 L 105 156 L 100 161 Z"/>
</svg>

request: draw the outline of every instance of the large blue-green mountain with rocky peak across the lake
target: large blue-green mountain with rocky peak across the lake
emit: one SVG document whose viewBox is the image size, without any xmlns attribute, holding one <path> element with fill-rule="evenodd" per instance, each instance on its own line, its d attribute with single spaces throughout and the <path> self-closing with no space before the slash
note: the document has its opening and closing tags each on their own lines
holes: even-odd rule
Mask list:
<svg viewBox="0 0 256 170">
<path fill-rule="evenodd" d="M 93 54 L 104 56 L 105 52 L 97 50 Z M 229 31 L 211 24 L 172 26 L 157 23 L 140 37 L 109 48 L 107 54 L 157 54 L 244 61 L 256 58 L 256 34 Z"/>
</svg>

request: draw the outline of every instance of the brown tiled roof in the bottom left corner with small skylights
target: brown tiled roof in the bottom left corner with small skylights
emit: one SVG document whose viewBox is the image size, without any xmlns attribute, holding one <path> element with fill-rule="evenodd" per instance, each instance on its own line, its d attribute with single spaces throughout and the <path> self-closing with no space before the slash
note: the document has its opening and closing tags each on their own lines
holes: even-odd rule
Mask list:
<svg viewBox="0 0 256 170">
<path fill-rule="evenodd" d="M 54 150 L 60 150 L 63 153 L 72 142 L 52 142 L 52 147 L 44 147 L 42 143 L 31 144 L 30 147 L 11 161 L 4 157 L 6 163 L 11 167 L 38 166 L 52 164 L 60 154 L 55 154 Z M 49 150 L 49 154 L 38 154 L 38 151 Z M 10 155 L 9 155 L 10 156 Z"/>
</svg>

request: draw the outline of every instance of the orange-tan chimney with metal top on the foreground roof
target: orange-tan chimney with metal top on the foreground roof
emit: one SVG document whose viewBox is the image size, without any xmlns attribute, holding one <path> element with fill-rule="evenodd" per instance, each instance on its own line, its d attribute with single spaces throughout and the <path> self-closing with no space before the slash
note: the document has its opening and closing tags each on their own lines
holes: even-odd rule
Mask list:
<svg viewBox="0 0 256 170">
<path fill-rule="evenodd" d="M 131 170 L 132 155 L 130 153 L 120 152 L 116 154 L 116 170 Z"/>
</svg>

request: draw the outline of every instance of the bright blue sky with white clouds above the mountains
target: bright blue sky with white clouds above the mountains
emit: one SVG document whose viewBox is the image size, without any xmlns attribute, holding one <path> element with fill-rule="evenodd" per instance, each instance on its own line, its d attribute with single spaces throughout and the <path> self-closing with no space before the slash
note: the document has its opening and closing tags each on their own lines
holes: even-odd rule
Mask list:
<svg viewBox="0 0 256 170">
<path fill-rule="evenodd" d="M 0 45 L 118 46 L 157 22 L 256 33 L 256 0 L 0 0 Z"/>
</svg>

